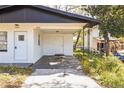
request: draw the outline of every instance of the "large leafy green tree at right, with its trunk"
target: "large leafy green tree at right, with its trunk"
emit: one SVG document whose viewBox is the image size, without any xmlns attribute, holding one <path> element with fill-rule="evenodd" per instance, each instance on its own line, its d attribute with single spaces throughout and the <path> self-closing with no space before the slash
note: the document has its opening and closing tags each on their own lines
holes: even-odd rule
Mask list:
<svg viewBox="0 0 124 93">
<path fill-rule="evenodd" d="M 124 7 L 123 6 L 107 6 L 96 5 L 88 6 L 85 9 L 92 17 L 101 21 L 99 26 L 100 34 L 105 40 L 106 56 L 109 55 L 109 37 L 110 33 L 113 37 L 124 36 Z"/>
</svg>

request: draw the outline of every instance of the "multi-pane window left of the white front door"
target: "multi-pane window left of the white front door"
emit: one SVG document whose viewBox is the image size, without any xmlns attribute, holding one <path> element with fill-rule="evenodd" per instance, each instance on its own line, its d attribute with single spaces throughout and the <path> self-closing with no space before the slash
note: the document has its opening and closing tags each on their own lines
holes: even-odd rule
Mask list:
<svg viewBox="0 0 124 93">
<path fill-rule="evenodd" d="M 0 51 L 7 51 L 7 32 L 0 32 Z"/>
</svg>

